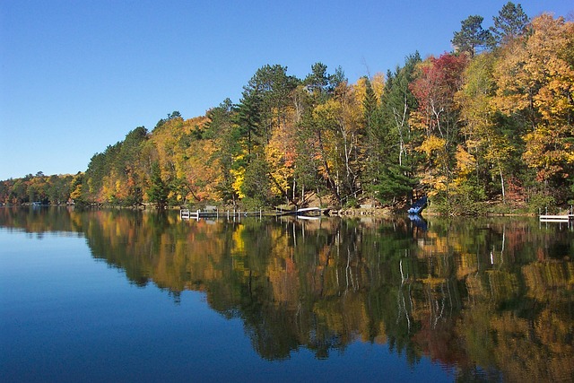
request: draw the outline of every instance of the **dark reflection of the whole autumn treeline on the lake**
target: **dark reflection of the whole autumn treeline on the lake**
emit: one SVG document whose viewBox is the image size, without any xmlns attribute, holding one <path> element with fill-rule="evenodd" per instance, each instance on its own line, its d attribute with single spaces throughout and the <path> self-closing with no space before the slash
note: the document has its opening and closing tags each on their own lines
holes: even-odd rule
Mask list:
<svg viewBox="0 0 574 383">
<path fill-rule="evenodd" d="M 0 226 L 77 232 L 92 256 L 174 297 L 206 293 L 261 357 L 353 342 L 430 356 L 459 379 L 574 379 L 574 232 L 530 219 L 243 219 L 0 209 Z"/>
</svg>

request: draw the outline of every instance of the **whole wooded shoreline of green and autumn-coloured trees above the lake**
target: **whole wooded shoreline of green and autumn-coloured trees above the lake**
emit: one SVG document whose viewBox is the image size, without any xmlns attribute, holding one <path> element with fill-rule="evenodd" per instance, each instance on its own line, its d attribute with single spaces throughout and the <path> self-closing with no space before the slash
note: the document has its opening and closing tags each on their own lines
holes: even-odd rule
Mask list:
<svg viewBox="0 0 574 383">
<path fill-rule="evenodd" d="M 574 203 L 574 22 L 508 3 L 469 16 L 453 52 L 405 57 L 349 83 L 264 65 L 238 103 L 174 111 L 96 153 L 75 175 L 0 181 L 22 205 L 402 207 L 506 213 Z"/>
</svg>

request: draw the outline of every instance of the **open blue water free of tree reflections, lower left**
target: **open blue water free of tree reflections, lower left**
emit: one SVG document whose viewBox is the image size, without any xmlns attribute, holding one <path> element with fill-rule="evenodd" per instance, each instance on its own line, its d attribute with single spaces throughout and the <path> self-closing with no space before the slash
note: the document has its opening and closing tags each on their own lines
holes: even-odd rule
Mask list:
<svg viewBox="0 0 574 383">
<path fill-rule="evenodd" d="M 0 381 L 452 381 L 361 341 L 326 359 L 300 347 L 267 361 L 240 318 L 202 292 L 178 299 L 91 257 L 78 233 L 0 228 Z"/>
</svg>

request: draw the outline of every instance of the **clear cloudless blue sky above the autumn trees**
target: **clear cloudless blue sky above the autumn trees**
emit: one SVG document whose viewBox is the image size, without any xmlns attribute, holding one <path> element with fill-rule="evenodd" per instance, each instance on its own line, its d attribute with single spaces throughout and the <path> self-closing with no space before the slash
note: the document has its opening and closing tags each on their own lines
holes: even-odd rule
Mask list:
<svg viewBox="0 0 574 383">
<path fill-rule="evenodd" d="M 472 14 L 508 0 L 0 0 L 0 179 L 74 174 L 136 126 L 239 101 L 257 68 L 354 83 L 418 50 L 451 50 Z M 571 0 L 525 0 L 571 19 Z"/>
</svg>

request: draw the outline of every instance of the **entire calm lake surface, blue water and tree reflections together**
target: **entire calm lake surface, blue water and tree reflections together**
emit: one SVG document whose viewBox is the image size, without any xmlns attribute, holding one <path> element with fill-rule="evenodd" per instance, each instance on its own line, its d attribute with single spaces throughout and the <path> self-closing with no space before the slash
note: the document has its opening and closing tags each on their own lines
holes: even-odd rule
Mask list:
<svg viewBox="0 0 574 383">
<path fill-rule="evenodd" d="M 0 208 L 0 380 L 570 381 L 574 229 Z"/>
</svg>

